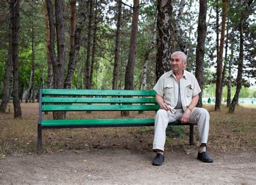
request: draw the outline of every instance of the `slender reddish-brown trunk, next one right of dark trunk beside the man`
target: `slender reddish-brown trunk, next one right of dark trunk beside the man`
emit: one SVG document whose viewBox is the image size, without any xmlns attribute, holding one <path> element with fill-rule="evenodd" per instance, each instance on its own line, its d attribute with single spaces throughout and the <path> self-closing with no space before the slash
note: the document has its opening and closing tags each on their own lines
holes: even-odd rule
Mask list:
<svg viewBox="0 0 256 185">
<path fill-rule="evenodd" d="M 217 53 L 217 77 L 216 77 L 216 93 L 215 93 L 215 110 L 220 109 L 221 105 L 221 74 L 223 70 L 223 49 L 225 39 L 225 24 L 226 24 L 226 7 L 227 0 L 223 0 L 222 6 L 222 21 L 221 21 L 221 32 L 220 32 L 220 46 L 219 52 Z"/>
</svg>

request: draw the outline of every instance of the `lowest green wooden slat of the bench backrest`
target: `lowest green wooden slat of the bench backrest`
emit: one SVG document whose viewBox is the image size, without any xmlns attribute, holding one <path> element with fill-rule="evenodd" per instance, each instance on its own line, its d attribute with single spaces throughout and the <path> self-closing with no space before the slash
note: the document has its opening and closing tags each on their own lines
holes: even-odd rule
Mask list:
<svg viewBox="0 0 256 185">
<path fill-rule="evenodd" d="M 137 111 L 137 110 L 158 110 L 159 105 L 85 105 L 85 104 L 59 104 L 42 105 L 42 111 Z"/>
</svg>

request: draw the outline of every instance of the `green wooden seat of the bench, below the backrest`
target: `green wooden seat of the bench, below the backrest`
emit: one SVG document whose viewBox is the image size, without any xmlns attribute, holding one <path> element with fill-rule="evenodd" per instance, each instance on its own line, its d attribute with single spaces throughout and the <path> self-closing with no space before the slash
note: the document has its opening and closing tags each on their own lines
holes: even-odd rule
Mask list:
<svg viewBox="0 0 256 185">
<path fill-rule="evenodd" d="M 74 126 L 83 125 L 86 126 L 97 126 L 97 125 L 154 125 L 153 118 L 137 118 L 137 119 L 64 119 L 64 120 L 43 120 L 42 126 Z M 179 125 L 180 122 L 172 122 L 170 125 Z"/>
</svg>

